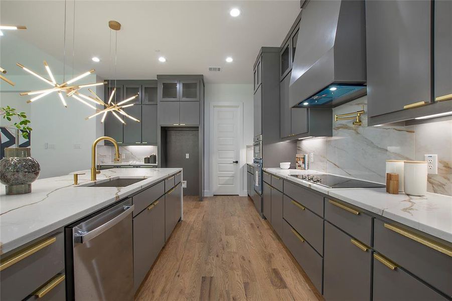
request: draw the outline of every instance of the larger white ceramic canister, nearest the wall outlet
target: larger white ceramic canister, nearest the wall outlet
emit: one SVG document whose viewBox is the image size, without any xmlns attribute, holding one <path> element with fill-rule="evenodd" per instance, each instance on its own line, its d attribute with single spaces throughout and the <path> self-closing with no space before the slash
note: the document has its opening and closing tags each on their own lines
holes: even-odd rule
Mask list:
<svg viewBox="0 0 452 301">
<path fill-rule="evenodd" d="M 424 196 L 427 192 L 427 162 L 405 161 L 403 188 L 407 195 Z"/>
</svg>

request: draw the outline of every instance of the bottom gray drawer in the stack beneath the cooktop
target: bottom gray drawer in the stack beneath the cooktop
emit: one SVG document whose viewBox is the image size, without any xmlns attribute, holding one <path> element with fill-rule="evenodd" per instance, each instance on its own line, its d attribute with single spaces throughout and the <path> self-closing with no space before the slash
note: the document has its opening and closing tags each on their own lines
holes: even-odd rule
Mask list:
<svg viewBox="0 0 452 301">
<path fill-rule="evenodd" d="M 302 241 L 303 237 L 297 234 L 286 221 L 283 220 L 282 224 L 282 240 L 284 241 L 284 244 L 309 276 L 319 292 L 322 293 L 322 256 L 320 256 L 306 241 Z"/>
</svg>

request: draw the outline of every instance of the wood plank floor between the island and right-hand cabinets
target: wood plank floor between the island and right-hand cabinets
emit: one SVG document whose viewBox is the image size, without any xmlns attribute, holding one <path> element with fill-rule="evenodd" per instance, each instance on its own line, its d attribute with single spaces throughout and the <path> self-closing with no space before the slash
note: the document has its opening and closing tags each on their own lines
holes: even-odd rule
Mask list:
<svg viewBox="0 0 452 301">
<path fill-rule="evenodd" d="M 323 300 L 251 199 L 184 197 L 136 300 Z"/>
</svg>

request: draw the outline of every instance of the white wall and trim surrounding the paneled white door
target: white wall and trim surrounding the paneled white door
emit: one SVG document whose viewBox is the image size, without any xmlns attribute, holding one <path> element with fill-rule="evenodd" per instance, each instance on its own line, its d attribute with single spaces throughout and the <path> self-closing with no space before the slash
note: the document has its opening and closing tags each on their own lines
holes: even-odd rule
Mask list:
<svg viewBox="0 0 452 301">
<path fill-rule="evenodd" d="M 213 102 L 242 103 L 243 141 L 240 142 L 240 195 L 246 196 L 246 145 L 253 142 L 253 85 L 252 84 L 206 84 L 204 107 L 204 194 L 212 195 L 210 152 L 210 104 Z"/>
</svg>

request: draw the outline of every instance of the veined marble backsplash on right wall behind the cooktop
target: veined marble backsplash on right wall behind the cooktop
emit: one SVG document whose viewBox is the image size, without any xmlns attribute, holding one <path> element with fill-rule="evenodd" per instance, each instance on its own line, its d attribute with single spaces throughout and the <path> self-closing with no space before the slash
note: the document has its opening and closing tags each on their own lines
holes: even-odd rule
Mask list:
<svg viewBox="0 0 452 301">
<path fill-rule="evenodd" d="M 334 114 L 367 111 L 367 97 L 333 109 Z M 333 121 L 333 136 L 297 142 L 298 154 L 314 153 L 309 168 L 321 172 L 384 183 L 386 160 L 424 160 L 438 155 L 438 174 L 428 175 L 429 192 L 452 195 L 452 120 L 411 126 L 353 126 Z"/>
</svg>

